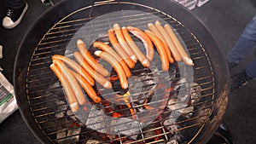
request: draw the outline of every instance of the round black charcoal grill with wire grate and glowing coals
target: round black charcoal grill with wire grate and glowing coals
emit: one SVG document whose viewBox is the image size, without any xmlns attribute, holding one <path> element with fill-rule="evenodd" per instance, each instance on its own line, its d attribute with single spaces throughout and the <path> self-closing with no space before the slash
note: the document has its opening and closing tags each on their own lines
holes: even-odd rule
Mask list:
<svg viewBox="0 0 256 144">
<path fill-rule="evenodd" d="M 159 59 L 154 60 L 152 69 L 137 66 L 131 70 L 136 78 L 147 76 L 143 86 L 129 81 L 143 89 L 131 98 L 147 96 L 153 88 L 157 97 L 153 101 L 152 95 L 137 96 L 131 101 L 137 120 L 131 118 L 128 107 L 114 105 L 108 97 L 121 93 L 118 84 L 110 92 L 95 87 L 110 105 L 93 104 L 88 112 L 71 112 L 61 84 L 49 69 L 51 56 L 73 58 L 78 38 L 88 47 L 97 38 L 108 42 L 104 34 L 114 22 L 146 29 L 154 20 L 174 28 L 195 66 L 175 63 L 167 78 L 159 68 Z M 43 143 L 207 143 L 223 118 L 229 92 L 227 66 L 211 33 L 195 15 L 169 0 L 63 1 L 40 16 L 26 33 L 16 56 L 14 77 L 20 112 Z M 148 84 L 155 78 L 164 80 Z M 177 95 L 183 100 L 177 101 Z M 145 99 L 150 99 L 148 106 L 158 108 L 139 109 L 142 105 L 138 102 Z M 112 118 L 109 108 L 122 113 L 122 119 Z"/>
</svg>

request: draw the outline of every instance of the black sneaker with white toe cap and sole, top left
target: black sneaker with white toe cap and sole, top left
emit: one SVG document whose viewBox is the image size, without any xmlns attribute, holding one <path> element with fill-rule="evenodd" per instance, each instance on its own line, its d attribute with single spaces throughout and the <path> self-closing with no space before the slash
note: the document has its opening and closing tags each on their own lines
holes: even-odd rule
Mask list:
<svg viewBox="0 0 256 144">
<path fill-rule="evenodd" d="M 24 14 L 26 13 L 27 8 L 27 3 L 20 9 L 7 8 L 7 14 L 3 18 L 3 27 L 6 29 L 11 29 L 19 25 Z"/>
</svg>

